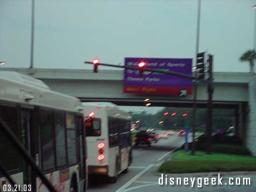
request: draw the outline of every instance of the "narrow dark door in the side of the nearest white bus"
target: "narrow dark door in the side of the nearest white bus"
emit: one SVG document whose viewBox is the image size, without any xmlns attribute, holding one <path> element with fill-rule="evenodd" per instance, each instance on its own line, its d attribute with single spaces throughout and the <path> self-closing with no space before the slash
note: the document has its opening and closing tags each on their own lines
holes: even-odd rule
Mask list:
<svg viewBox="0 0 256 192">
<path fill-rule="evenodd" d="M 31 110 L 21 109 L 21 140 L 28 152 L 31 154 Z M 31 167 L 28 166 L 28 163 L 23 161 L 23 181 L 24 184 L 31 184 Z"/>
</svg>

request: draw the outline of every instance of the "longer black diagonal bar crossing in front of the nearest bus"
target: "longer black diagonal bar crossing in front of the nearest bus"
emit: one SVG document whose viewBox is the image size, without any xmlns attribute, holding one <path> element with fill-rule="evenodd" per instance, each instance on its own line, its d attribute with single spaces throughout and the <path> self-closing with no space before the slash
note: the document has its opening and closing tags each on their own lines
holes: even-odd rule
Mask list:
<svg viewBox="0 0 256 192">
<path fill-rule="evenodd" d="M 0 126 L 3 132 L 7 135 L 8 139 L 12 142 L 13 146 L 18 150 L 18 153 L 21 154 L 21 156 L 25 159 L 25 161 L 28 162 L 28 164 L 31 166 L 31 168 L 35 171 L 35 173 L 40 177 L 42 182 L 44 182 L 45 186 L 50 192 L 57 192 L 54 187 L 52 187 L 52 184 L 49 182 L 49 180 L 44 176 L 44 173 L 39 167 L 37 166 L 34 159 L 31 157 L 31 155 L 27 152 L 24 145 L 21 143 L 20 140 L 14 135 L 14 133 L 10 130 L 8 125 L 4 122 L 2 117 L 0 117 Z"/>
</svg>

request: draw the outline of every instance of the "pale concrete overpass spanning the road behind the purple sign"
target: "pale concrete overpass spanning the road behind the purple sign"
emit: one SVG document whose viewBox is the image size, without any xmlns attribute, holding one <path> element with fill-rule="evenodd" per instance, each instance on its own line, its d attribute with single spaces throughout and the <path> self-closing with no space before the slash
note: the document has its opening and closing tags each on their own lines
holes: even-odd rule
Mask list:
<svg viewBox="0 0 256 192">
<path fill-rule="evenodd" d="M 111 101 L 121 105 L 145 105 L 150 98 L 152 106 L 191 107 L 193 95 L 185 98 L 170 95 L 147 95 L 123 93 L 123 70 L 68 70 L 26 69 L 14 70 L 43 80 L 52 90 L 76 96 L 82 101 Z M 214 107 L 235 109 L 235 127 L 238 135 L 256 155 L 256 75 L 250 73 L 214 73 Z M 198 83 L 197 101 L 205 107 L 207 87 Z"/>
</svg>

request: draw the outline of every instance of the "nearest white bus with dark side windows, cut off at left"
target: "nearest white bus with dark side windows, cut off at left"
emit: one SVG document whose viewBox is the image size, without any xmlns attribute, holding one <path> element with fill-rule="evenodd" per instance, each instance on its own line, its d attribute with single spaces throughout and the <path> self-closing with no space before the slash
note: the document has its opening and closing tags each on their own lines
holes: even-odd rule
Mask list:
<svg viewBox="0 0 256 192">
<path fill-rule="evenodd" d="M 41 80 L 0 71 L 0 117 L 10 127 L 58 192 L 86 191 L 84 108 L 75 97 L 51 91 Z M 2 132 L 0 163 L 17 189 L 48 192 Z M 0 172 L 0 191 L 13 191 Z"/>
</svg>

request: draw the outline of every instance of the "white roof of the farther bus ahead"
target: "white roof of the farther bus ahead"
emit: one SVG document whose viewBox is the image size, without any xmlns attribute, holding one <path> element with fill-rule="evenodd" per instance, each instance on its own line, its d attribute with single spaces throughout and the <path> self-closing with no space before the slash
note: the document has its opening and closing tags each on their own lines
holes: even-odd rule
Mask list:
<svg viewBox="0 0 256 192">
<path fill-rule="evenodd" d="M 120 110 L 116 104 L 113 104 L 111 102 L 83 102 L 83 105 L 84 105 L 85 111 L 87 110 L 91 111 L 91 109 L 95 109 L 96 107 L 99 106 L 110 117 L 117 117 L 121 119 L 131 119 L 131 115 L 128 112 Z"/>
</svg>

